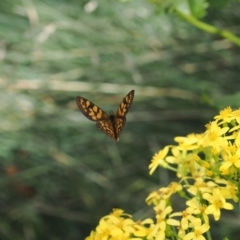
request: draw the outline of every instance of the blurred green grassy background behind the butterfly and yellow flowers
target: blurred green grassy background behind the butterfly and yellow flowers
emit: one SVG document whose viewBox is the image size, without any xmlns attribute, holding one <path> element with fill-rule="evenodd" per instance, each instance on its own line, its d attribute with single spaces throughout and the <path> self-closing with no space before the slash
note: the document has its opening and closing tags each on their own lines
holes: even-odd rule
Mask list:
<svg viewBox="0 0 240 240">
<path fill-rule="evenodd" d="M 240 35 L 239 2 L 218 2 L 204 21 Z M 84 239 L 112 208 L 151 216 L 145 198 L 175 177 L 149 176 L 152 156 L 239 107 L 239 56 L 147 1 L 1 1 L 0 239 Z M 75 103 L 115 111 L 132 89 L 119 142 Z M 236 239 L 239 221 L 213 239 Z"/>
</svg>

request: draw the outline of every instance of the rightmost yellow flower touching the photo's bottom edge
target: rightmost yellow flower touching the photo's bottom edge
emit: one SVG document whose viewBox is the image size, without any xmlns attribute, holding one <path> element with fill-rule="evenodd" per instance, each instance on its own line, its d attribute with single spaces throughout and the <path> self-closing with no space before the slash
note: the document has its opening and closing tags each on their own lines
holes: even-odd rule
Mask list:
<svg viewBox="0 0 240 240">
<path fill-rule="evenodd" d="M 193 231 L 186 234 L 183 240 L 205 240 L 206 238 L 203 236 L 203 234 L 208 231 L 210 226 L 206 223 L 202 224 L 199 218 L 195 218 L 192 224 Z"/>
</svg>

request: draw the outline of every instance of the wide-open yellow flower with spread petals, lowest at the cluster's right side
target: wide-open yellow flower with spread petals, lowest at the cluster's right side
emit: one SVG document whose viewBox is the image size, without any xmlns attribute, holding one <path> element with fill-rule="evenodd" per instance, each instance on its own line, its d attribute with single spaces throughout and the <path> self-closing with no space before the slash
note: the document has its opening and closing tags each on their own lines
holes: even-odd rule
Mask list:
<svg viewBox="0 0 240 240">
<path fill-rule="evenodd" d="M 213 189 L 212 195 L 210 193 L 204 193 L 203 198 L 210 203 L 210 205 L 206 209 L 206 213 L 213 214 L 216 221 L 220 218 L 220 209 L 233 209 L 233 205 L 226 202 L 225 198 L 223 197 L 218 188 Z"/>
</svg>

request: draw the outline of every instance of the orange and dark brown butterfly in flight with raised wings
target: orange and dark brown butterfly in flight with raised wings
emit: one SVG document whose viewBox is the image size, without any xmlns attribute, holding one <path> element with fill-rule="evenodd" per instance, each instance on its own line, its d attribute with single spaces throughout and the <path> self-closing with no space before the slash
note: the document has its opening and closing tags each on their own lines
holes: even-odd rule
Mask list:
<svg viewBox="0 0 240 240">
<path fill-rule="evenodd" d="M 76 97 L 78 108 L 90 120 L 96 122 L 97 128 L 109 137 L 119 140 L 119 136 L 126 123 L 126 115 L 134 98 L 134 90 L 129 92 L 120 103 L 116 113 L 107 114 L 93 102 L 83 97 Z"/>
</svg>

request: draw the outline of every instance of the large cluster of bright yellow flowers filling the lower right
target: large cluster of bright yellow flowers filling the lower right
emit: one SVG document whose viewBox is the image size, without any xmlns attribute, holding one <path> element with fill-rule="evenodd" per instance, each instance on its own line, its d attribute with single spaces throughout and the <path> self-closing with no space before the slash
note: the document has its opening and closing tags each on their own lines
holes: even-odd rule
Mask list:
<svg viewBox="0 0 240 240">
<path fill-rule="evenodd" d="M 181 240 L 211 239 L 209 216 L 219 220 L 229 201 L 238 202 L 240 177 L 240 109 L 220 111 L 202 134 L 176 137 L 177 145 L 166 146 L 154 155 L 150 174 L 158 166 L 175 171 L 180 179 L 149 194 L 155 221 L 134 222 L 122 210 L 100 220 L 86 240 Z M 172 196 L 185 199 L 185 208 L 173 211 Z"/>
</svg>

